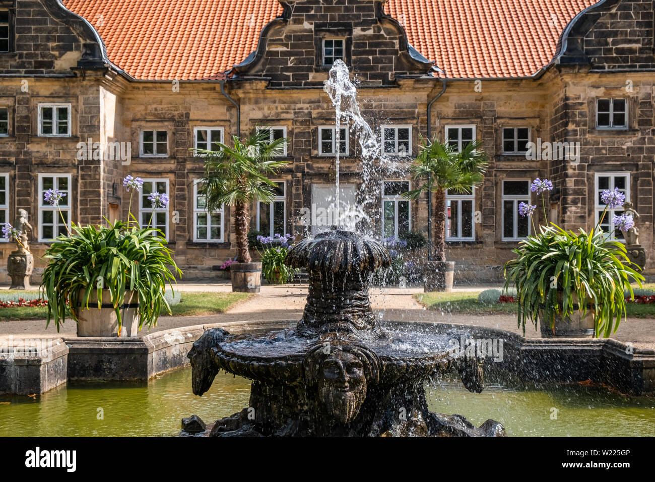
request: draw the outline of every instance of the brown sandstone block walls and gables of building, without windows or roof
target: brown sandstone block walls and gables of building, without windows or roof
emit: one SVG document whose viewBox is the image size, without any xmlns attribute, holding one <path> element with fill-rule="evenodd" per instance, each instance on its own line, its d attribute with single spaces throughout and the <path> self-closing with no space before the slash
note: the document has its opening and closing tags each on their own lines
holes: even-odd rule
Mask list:
<svg viewBox="0 0 655 482">
<path fill-rule="evenodd" d="M 220 81 L 136 81 L 107 59 L 97 33 L 55 0 L 0 0 L 14 19 L 12 52 L 0 53 L 0 108 L 9 110 L 9 135 L 0 137 L 0 174 L 9 175 L 7 218 L 29 212 L 35 227 L 30 243 L 38 281 L 39 174 L 70 175 L 70 217 L 102 223 L 122 216 L 130 204 L 122 178 L 127 174 L 166 182 L 172 199 L 168 240 L 185 277 L 216 277 L 212 268 L 233 258 L 230 209 L 223 212 L 222 241 L 195 241 L 193 182 L 202 175 L 194 157 L 196 129 L 221 130 L 229 140 L 256 125 L 285 128 L 290 161 L 278 176 L 286 186 L 289 233 L 302 235 L 301 209 L 310 207 L 314 184 L 333 184 L 333 157 L 319 152 L 319 128 L 334 125 L 334 110 L 322 90 L 329 68 L 322 64 L 325 39 L 343 39 L 346 63 L 354 72 L 364 117 L 373 130 L 383 125 L 411 127 L 409 164 L 419 134 L 441 138 L 448 126 L 475 126 L 489 154 L 489 170 L 476 190 L 474 239 L 449 241 L 447 258 L 457 262 L 456 282 L 487 283 L 502 276 L 517 241 L 503 235 L 504 180 L 548 177 L 557 190 L 546 211 L 564 228 L 591 228 L 595 222 L 597 178 L 603 172 L 629 174 L 629 198 L 641 215 L 640 240 L 646 273 L 653 262 L 653 162 L 655 158 L 655 57 L 650 0 L 606 0 L 589 9 L 563 35 L 553 62 L 527 78 L 441 79 L 433 62 L 407 44 L 402 26 L 384 14 L 383 1 L 284 0 L 284 14 L 261 34 L 257 50 L 235 66 L 225 91 Z M 560 55 L 561 54 L 561 55 Z M 438 61 L 438 59 L 437 59 Z M 438 63 L 438 62 L 437 62 Z M 428 102 L 432 104 L 428 119 Z M 597 129 L 597 100 L 625 99 L 627 129 Z M 70 136 L 39 135 L 39 104 L 71 108 Z M 527 128 L 531 140 L 580 142 L 571 159 L 527 159 L 504 153 L 502 129 Z M 143 131 L 166 131 L 166 153 L 143 155 Z M 79 155 L 79 143 L 100 142 L 100 156 Z M 107 155 L 106 146 L 122 143 L 129 159 Z M 128 148 L 127 143 L 130 143 Z M 341 159 L 341 183 L 358 184 L 363 173 L 356 139 Z M 573 144 L 576 145 L 576 144 Z M 119 151 L 121 146 L 118 146 Z M 82 157 L 82 158 L 80 158 Z M 86 158 L 84 158 L 86 157 Z M 383 171 L 378 172 L 384 178 Z M 393 178 L 396 178 L 394 175 Z M 532 201 L 537 201 L 533 196 Z M 252 228 L 256 209 L 252 207 Z M 372 210 L 381 232 L 381 200 Z M 538 212 L 543 212 L 539 204 Z M 411 229 L 426 233 L 426 201 L 411 204 Z M 542 222 L 538 214 L 535 222 Z M 14 247 L 0 243 L 0 260 Z M 7 282 L 0 262 L 0 281 Z M 653 273 L 655 274 L 655 273 Z"/>
</svg>

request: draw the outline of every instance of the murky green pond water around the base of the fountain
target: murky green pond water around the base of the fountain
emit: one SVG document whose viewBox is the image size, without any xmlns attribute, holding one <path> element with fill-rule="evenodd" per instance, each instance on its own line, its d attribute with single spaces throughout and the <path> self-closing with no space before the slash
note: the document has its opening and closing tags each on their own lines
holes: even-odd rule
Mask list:
<svg viewBox="0 0 655 482">
<path fill-rule="evenodd" d="M 67 384 L 36 399 L 0 395 L 0 437 L 177 435 L 181 418 L 214 421 L 247 407 L 249 397 L 250 382 L 224 372 L 196 397 L 190 369 L 143 384 Z M 478 426 L 493 418 L 513 436 L 655 436 L 655 399 L 577 384 L 544 390 L 489 385 L 470 393 L 444 380 L 428 387 L 428 405 Z"/>
</svg>

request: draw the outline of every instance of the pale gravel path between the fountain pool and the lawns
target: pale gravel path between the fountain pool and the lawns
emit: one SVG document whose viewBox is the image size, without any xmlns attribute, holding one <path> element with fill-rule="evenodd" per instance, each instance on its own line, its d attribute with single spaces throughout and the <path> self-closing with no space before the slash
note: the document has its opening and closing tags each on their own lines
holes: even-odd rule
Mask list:
<svg viewBox="0 0 655 482">
<path fill-rule="evenodd" d="M 231 291 L 229 283 L 179 285 L 181 291 Z M 466 287 L 462 291 L 481 290 L 483 288 Z M 442 313 L 426 310 L 413 298 L 421 288 L 371 288 L 371 305 L 373 310 L 381 312 L 384 319 L 391 321 L 428 321 L 454 323 L 457 325 L 476 325 L 498 328 L 520 333 L 514 315 L 463 315 L 459 313 Z M 210 296 L 210 295 L 208 295 Z M 203 323 L 225 323 L 244 319 L 289 320 L 290 325 L 299 320 L 303 314 L 307 285 L 264 285 L 259 296 L 234 306 L 227 313 L 210 316 L 164 316 L 160 317 L 157 327 L 147 332 L 168 330 L 178 327 L 200 325 Z M 143 332 L 146 334 L 147 332 Z M 0 334 L 14 334 L 29 337 L 57 336 L 54 325 L 45 329 L 45 321 L 2 321 Z M 60 336 L 75 336 L 75 323 L 65 323 Z M 526 335 L 539 338 L 540 334 L 532 325 L 526 327 Z M 624 321 L 612 338 L 624 342 L 633 342 L 635 346 L 655 348 L 655 320 L 629 318 Z"/>
</svg>

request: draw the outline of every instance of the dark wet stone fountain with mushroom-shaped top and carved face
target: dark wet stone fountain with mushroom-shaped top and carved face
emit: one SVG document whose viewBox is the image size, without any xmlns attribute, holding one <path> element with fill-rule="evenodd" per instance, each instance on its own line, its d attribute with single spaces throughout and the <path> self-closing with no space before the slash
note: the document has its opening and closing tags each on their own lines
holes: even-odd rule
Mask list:
<svg viewBox="0 0 655 482">
<path fill-rule="evenodd" d="M 306 268 L 303 319 L 268 336 L 206 331 L 189 352 L 193 393 L 219 370 L 252 380 L 250 407 L 217 420 L 210 436 L 502 436 L 487 420 L 428 410 L 424 385 L 456 369 L 471 392 L 483 388 L 483 359 L 453 354 L 453 334 L 381 324 L 368 281 L 391 258 L 379 241 L 333 228 L 291 248 L 287 263 Z"/>
</svg>

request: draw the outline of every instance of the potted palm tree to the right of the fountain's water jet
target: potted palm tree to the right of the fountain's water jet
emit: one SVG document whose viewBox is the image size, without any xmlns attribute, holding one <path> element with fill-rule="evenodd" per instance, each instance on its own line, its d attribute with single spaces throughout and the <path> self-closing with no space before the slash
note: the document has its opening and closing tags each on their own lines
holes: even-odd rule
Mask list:
<svg viewBox="0 0 655 482">
<path fill-rule="evenodd" d="M 424 191 L 436 195 L 434 261 L 424 262 L 424 291 L 451 291 L 455 262 L 446 261 L 446 192 L 469 194 L 479 186 L 487 170 L 487 157 L 480 142 L 469 142 L 461 151 L 437 137 L 421 138 L 421 150 L 411 167 L 417 188 L 403 193 L 407 199 L 419 199 Z M 430 202 L 432 202 L 430 200 Z M 432 253 L 430 253 L 432 254 Z"/>
</svg>

